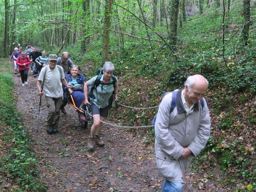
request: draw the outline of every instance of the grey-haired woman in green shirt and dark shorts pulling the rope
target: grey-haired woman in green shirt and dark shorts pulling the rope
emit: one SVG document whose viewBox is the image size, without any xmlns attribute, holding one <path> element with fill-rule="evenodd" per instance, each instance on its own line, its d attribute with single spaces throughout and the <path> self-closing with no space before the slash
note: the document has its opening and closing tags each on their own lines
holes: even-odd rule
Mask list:
<svg viewBox="0 0 256 192">
<path fill-rule="evenodd" d="M 103 75 L 101 75 L 100 78 L 100 85 L 92 88 L 92 95 L 90 95 L 90 99 L 92 99 L 91 103 L 88 101 L 88 87 L 94 86 L 96 79 L 98 75 L 92 77 L 89 81 L 86 81 L 84 84 L 84 103 L 92 105 L 92 115 L 93 115 L 93 125 L 91 128 L 91 132 L 88 138 L 88 149 L 94 150 L 94 140 L 96 141 L 96 144 L 99 146 L 103 146 L 104 142 L 100 138 L 100 133 L 102 130 L 103 123 L 101 121 L 104 121 L 104 119 L 108 116 L 108 110 L 110 108 L 109 105 L 109 99 L 112 97 L 113 91 L 114 91 L 114 98 L 113 100 L 117 100 L 118 95 L 118 80 L 113 75 L 115 70 L 115 67 L 113 63 L 111 62 L 105 62 L 103 65 Z M 116 78 L 116 82 L 114 83 L 114 76 Z M 95 98 L 95 99 L 93 99 Z M 112 103 L 112 102 L 111 102 Z M 101 121 L 99 121 L 101 120 Z"/>
</svg>

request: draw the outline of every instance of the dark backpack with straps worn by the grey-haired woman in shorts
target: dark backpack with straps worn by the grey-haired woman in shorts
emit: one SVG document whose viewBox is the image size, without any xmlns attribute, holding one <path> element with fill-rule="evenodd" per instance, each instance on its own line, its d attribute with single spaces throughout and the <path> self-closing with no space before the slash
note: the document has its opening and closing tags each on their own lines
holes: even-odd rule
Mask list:
<svg viewBox="0 0 256 192">
<path fill-rule="evenodd" d="M 97 89 L 96 89 L 96 88 L 97 88 L 99 85 L 111 85 L 111 84 L 113 84 L 114 89 L 115 89 L 115 85 L 116 85 L 116 82 L 117 82 L 116 76 L 113 74 L 112 77 L 111 77 L 111 78 L 113 79 L 113 82 L 112 82 L 112 83 L 102 83 L 102 82 L 100 81 L 100 79 L 101 79 L 101 77 L 102 77 L 102 75 L 103 75 L 103 68 L 102 68 L 102 67 L 98 69 L 96 75 L 98 75 L 98 76 L 97 76 L 96 80 L 94 81 L 94 84 L 92 85 L 92 87 L 91 87 L 91 89 L 90 89 L 90 91 L 89 91 L 89 96 L 90 96 L 91 99 L 96 99 L 95 96 L 94 96 L 94 94 L 93 94 L 93 91 L 94 91 L 94 89 L 95 89 L 95 90 L 96 90 L 96 93 L 97 93 Z M 109 106 L 110 108 L 112 107 L 113 99 L 114 99 L 114 91 L 113 91 L 111 97 L 110 97 L 109 100 L 108 100 L 108 106 Z"/>
</svg>

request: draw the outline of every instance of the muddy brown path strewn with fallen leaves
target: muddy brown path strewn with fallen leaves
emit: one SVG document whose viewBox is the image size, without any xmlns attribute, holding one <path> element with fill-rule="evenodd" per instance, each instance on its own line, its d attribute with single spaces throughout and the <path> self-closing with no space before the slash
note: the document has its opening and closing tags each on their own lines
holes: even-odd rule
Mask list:
<svg viewBox="0 0 256 192">
<path fill-rule="evenodd" d="M 74 108 L 66 106 L 61 113 L 59 133 L 46 133 L 47 107 L 44 97 L 37 129 L 39 100 L 36 78 L 31 70 L 28 84 L 13 75 L 17 108 L 24 124 L 32 134 L 32 148 L 36 152 L 40 177 L 48 192 L 160 192 L 163 178 L 155 166 L 154 144 L 144 144 L 140 135 L 126 129 L 104 126 L 105 146 L 87 151 L 88 129 L 82 129 Z M 112 117 L 110 123 L 115 124 Z M 112 119 L 112 120 L 111 120 Z M 216 182 L 201 184 L 200 175 L 186 173 L 184 191 L 220 191 Z M 221 190 L 222 191 L 222 190 Z"/>
</svg>

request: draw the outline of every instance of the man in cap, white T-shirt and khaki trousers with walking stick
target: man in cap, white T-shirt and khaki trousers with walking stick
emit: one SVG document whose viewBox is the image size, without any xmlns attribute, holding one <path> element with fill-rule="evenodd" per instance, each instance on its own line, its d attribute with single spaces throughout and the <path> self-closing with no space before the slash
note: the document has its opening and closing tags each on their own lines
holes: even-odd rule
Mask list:
<svg viewBox="0 0 256 192">
<path fill-rule="evenodd" d="M 45 101 L 48 107 L 47 127 L 49 134 L 58 133 L 58 124 L 60 119 L 60 105 L 62 103 L 62 83 L 67 87 L 68 91 L 73 91 L 68 86 L 64 76 L 63 68 L 56 65 L 57 55 L 50 54 L 48 56 L 48 63 L 42 68 L 37 81 L 38 95 L 45 95 Z M 43 92 L 41 91 L 41 84 L 44 83 Z"/>
</svg>

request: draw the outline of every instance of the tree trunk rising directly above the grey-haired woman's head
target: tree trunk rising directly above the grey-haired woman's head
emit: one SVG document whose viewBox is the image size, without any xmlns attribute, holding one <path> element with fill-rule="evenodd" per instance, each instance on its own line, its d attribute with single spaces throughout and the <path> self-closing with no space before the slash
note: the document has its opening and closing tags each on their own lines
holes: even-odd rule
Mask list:
<svg viewBox="0 0 256 192">
<path fill-rule="evenodd" d="M 103 31 L 103 50 L 102 50 L 102 59 L 103 61 L 109 60 L 109 31 L 110 31 L 110 15 L 111 15 L 111 8 L 112 8 L 112 0 L 108 0 L 106 2 L 105 8 L 105 24 L 104 24 L 104 31 Z"/>
</svg>

